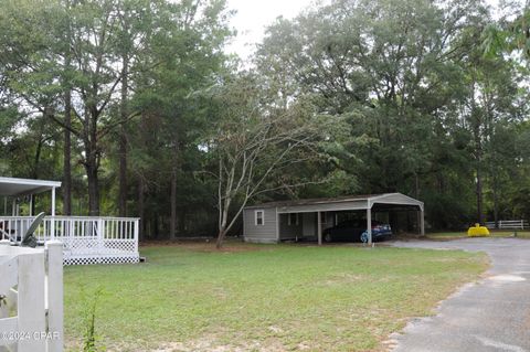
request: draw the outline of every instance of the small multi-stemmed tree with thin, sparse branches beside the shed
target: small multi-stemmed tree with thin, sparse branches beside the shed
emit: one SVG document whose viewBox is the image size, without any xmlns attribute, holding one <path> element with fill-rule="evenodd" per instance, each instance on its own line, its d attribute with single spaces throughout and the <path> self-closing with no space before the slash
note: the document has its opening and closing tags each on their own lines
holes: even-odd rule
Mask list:
<svg viewBox="0 0 530 352">
<path fill-rule="evenodd" d="M 258 82 L 252 75 L 230 78 L 215 95 L 219 110 L 203 149 L 216 168 L 212 174 L 218 184 L 218 248 L 251 200 L 322 183 L 324 179 L 297 175 L 294 170 L 325 163 L 324 145 L 335 139 L 333 129 L 343 127 L 337 119 L 316 115 L 303 99 L 279 107 Z"/>
</svg>

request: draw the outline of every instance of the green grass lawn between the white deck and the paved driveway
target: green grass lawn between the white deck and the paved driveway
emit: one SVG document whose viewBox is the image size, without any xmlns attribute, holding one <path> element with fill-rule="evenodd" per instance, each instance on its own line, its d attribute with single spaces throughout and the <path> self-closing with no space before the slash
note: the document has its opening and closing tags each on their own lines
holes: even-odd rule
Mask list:
<svg viewBox="0 0 530 352">
<path fill-rule="evenodd" d="M 483 273 L 484 254 L 354 246 L 144 247 L 148 263 L 66 267 L 65 333 L 83 334 L 82 291 L 110 351 L 380 351 Z"/>
</svg>

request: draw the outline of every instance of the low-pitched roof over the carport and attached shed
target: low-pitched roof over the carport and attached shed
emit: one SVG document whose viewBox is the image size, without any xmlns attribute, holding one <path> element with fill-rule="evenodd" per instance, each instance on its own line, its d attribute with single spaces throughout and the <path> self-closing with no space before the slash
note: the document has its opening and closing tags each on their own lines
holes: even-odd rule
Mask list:
<svg viewBox="0 0 530 352">
<path fill-rule="evenodd" d="M 306 199 L 268 202 L 246 209 L 276 207 L 279 213 L 306 211 L 340 211 L 371 209 L 373 204 L 415 205 L 423 210 L 423 202 L 402 193 L 346 195 L 338 198 Z"/>
</svg>

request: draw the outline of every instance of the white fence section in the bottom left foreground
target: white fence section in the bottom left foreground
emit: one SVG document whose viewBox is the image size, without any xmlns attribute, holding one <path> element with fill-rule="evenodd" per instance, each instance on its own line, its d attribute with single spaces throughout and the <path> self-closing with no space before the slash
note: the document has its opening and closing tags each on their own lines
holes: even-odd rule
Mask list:
<svg viewBox="0 0 530 352">
<path fill-rule="evenodd" d="M 0 241 L 0 351 L 63 351 L 63 250 Z"/>
</svg>

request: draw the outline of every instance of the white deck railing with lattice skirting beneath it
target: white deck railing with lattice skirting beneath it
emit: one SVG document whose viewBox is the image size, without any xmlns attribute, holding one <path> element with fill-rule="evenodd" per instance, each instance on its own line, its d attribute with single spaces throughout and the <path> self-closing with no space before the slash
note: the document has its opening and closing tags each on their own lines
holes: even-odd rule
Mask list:
<svg viewBox="0 0 530 352">
<path fill-rule="evenodd" d="M 20 243 L 34 217 L 0 216 L 0 235 Z M 59 239 L 64 264 L 138 263 L 139 218 L 46 216 L 34 236 L 43 244 Z"/>
</svg>

